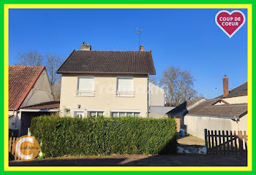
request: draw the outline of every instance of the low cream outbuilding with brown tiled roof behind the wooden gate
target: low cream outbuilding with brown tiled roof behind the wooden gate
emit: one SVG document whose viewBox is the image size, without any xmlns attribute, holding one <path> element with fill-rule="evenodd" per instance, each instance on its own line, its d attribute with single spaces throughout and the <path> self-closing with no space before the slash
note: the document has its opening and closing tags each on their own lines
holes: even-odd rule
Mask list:
<svg viewBox="0 0 256 175">
<path fill-rule="evenodd" d="M 206 100 L 184 117 L 187 133 L 204 138 L 204 129 L 213 131 L 246 131 L 247 104 L 216 105 L 218 99 Z"/>
</svg>

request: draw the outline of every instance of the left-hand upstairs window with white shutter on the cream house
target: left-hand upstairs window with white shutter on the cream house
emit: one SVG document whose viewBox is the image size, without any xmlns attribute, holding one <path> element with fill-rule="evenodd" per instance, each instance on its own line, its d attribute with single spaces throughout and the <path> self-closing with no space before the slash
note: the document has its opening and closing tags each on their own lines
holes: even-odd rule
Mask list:
<svg viewBox="0 0 256 175">
<path fill-rule="evenodd" d="M 94 77 L 78 77 L 78 96 L 94 96 Z"/>
</svg>

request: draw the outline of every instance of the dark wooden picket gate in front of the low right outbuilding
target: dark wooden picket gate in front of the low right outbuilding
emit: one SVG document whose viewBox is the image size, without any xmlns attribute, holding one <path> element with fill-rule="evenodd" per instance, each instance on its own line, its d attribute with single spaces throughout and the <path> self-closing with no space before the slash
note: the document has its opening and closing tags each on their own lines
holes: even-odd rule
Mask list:
<svg viewBox="0 0 256 175">
<path fill-rule="evenodd" d="M 208 131 L 205 129 L 207 154 L 247 155 L 246 131 Z"/>
</svg>

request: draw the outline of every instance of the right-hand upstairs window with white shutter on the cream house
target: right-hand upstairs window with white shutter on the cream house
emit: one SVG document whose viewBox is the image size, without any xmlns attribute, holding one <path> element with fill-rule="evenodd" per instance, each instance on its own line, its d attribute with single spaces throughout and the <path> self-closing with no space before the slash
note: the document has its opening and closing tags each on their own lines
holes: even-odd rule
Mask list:
<svg viewBox="0 0 256 175">
<path fill-rule="evenodd" d="M 118 77 L 116 85 L 116 96 L 134 96 L 133 77 Z"/>
</svg>

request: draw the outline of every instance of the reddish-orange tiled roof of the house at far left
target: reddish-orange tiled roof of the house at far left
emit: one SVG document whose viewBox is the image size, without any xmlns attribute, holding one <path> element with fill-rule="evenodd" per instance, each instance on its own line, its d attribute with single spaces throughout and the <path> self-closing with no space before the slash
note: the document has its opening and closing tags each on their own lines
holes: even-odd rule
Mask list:
<svg viewBox="0 0 256 175">
<path fill-rule="evenodd" d="M 45 66 L 9 66 L 9 109 L 18 109 Z"/>
</svg>

